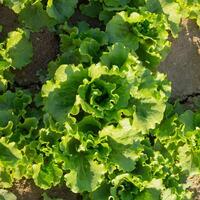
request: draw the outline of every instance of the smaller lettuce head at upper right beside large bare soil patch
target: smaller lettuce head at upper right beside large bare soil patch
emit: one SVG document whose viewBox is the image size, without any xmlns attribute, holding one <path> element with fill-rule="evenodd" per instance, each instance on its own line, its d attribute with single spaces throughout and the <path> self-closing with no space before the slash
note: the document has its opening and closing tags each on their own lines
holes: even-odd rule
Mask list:
<svg viewBox="0 0 200 200">
<path fill-rule="evenodd" d="M 154 69 L 169 51 L 167 20 L 147 11 L 117 13 L 106 25 L 109 42 L 136 52 L 145 66 Z"/>
</svg>

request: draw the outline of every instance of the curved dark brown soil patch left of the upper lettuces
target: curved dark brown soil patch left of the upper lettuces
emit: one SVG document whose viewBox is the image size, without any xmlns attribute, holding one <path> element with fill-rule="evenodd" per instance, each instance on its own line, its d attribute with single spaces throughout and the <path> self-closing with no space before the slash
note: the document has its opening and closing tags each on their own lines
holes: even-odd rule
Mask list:
<svg viewBox="0 0 200 200">
<path fill-rule="evenodd" d="M 15 70 L 15 81 L 19 86 L 29 87 L 39 83 L 38 72 L 46 70 L 51 60 L 54 60 L 59 52 L 59 39 L 48 30 L 31 33 L 33 45 L 32 62 L 21 70 Z"/>
</svg>

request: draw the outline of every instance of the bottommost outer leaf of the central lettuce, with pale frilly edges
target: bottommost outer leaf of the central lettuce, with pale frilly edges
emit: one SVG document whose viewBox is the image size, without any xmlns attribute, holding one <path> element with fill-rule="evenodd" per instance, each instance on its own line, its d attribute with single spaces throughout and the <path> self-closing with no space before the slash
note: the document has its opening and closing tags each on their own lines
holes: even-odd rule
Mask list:
<svg viewBox="0 0 200 200">
<path fill-rule="evenodd" d="M 84 132 L 82 136 L 79 132 L 79 135 L 75 136 L 77 139 L 74 136 L 74 132 L 73 137 L 66 135 L 62 137 L 60 143 L 58 155 L 61 156 L 63 169 L 67 170 L 64 178 L 73 192 L 92 192 L 101 185 L 107 170 L 101 162 L 96 160 L 97 155 L 93 150 L 95 144 L 92 145 L 92 141 L 89 141 L 87 132 Z M 87 142 L 90 142 L 88 149 L 83 147 Z"/>
</svg>

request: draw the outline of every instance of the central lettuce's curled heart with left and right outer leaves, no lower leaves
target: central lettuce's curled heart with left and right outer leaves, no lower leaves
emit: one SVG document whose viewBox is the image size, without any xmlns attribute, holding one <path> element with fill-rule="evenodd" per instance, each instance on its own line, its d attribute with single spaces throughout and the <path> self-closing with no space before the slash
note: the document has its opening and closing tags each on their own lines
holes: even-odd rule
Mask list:
<svg viewBox="0 0 200 200">
<path fill-rule="evenodd" d="M 103 55 L 103 62 L 110 54 Z M 42 96 L 45 111 L 58 122 L 79 112 L 105 123 L 115 123 L 126 116 L 132 119 L 135 129 L 142 131 L 153 128 L 162 119 L 169 91 L 162 74 L 153 75 L 125 52 L 124 63 L 120 61 L 119 66 L 60 66 L 54 79 L 43 86 Z"/>
</svg>

